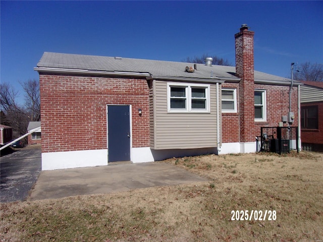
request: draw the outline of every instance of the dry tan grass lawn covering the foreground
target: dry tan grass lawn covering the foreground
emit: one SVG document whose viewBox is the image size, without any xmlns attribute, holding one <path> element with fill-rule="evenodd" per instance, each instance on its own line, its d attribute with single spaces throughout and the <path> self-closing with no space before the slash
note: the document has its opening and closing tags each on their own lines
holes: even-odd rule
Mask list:
<svg viewBox="0 0 323 242">
<path fill-rule="evenodd" d="M 1 204 L 1 241 L 323 240 L 323 155 L 208 155 L 171 163 L 210 181 Z M 276 210 L 276 221 L 231 221 Z"/>
</svg>

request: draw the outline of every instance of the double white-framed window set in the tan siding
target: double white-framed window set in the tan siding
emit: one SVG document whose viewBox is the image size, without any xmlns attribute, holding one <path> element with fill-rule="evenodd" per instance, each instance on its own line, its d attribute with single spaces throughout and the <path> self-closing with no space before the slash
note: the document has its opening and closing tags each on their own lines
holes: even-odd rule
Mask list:
<svg viewBox="0 0 323 242">
<path fill-rule="evenodd" d="M 210 85 L 167 83 L 169 112 L 209 112 Z"/>
</svg>

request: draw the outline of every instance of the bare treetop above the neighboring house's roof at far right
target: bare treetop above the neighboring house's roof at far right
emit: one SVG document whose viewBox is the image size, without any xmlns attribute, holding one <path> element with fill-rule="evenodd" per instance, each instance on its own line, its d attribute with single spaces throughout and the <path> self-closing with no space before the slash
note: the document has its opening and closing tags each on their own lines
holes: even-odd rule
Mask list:
<svg viewBox="0 0 323 242">
<path fill-rule="evenodd" d="M 310 62 L 305 62 L 296 67 L 294 78 L 299 81 L 323 82 L 323 64 L 313 65 Z"/>
</svg>

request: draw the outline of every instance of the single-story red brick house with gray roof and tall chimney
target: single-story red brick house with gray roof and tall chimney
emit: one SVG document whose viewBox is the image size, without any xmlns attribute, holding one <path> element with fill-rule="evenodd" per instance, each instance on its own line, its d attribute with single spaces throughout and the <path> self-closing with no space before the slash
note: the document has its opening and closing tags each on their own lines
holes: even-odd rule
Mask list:
<svg viewBox="0 0 323 242">
<path fill-rule="evenodd" d="M 236 67 L 45 52 L 42 169 L 255 152 L 260 127 L 287 115 L 291 81 L 254 71 L 253 34 L 235 35 Z"/>
</svg>

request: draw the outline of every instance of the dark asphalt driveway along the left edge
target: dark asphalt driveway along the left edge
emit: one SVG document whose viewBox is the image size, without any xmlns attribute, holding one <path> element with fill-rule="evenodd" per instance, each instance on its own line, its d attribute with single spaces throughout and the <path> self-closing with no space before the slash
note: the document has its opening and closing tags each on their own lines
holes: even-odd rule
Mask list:
<svg viewBox="0 0 323 242">
<path fill-rule="evenodd" d="M 26 200 L 41 171 L 41 149 L 30 146 L 0 159 L 0 202 Z"/>
</svg>

